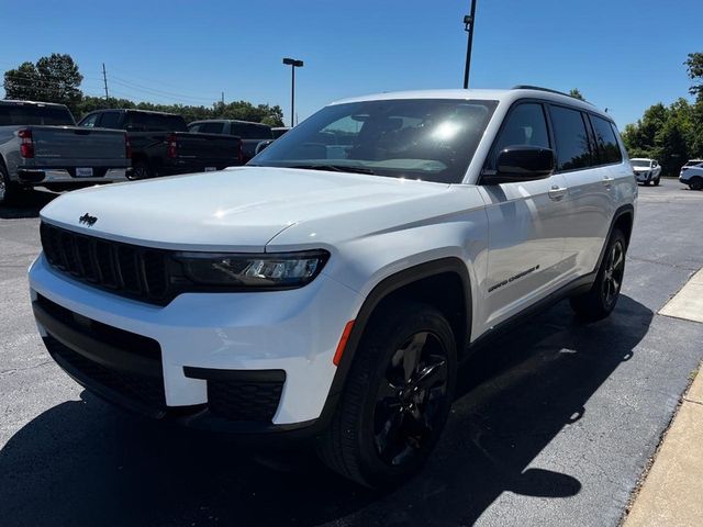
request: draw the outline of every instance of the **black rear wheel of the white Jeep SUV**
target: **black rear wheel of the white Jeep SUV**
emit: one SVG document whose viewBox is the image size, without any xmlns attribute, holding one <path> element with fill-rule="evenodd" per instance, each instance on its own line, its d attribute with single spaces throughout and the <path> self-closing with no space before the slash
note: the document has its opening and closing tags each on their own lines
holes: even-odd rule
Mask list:
<svg viewBox="0 0 703 527">
<path fill-rule="evenodd" d="M 603 255 L 601 268 L 588 293 L 571 296 L 571 309 L 583 321 L 595 322 L 612 313 L 620 298 L 625 273 L 627 240 L 618 228 L 614 228 Z"/>
</svg>

